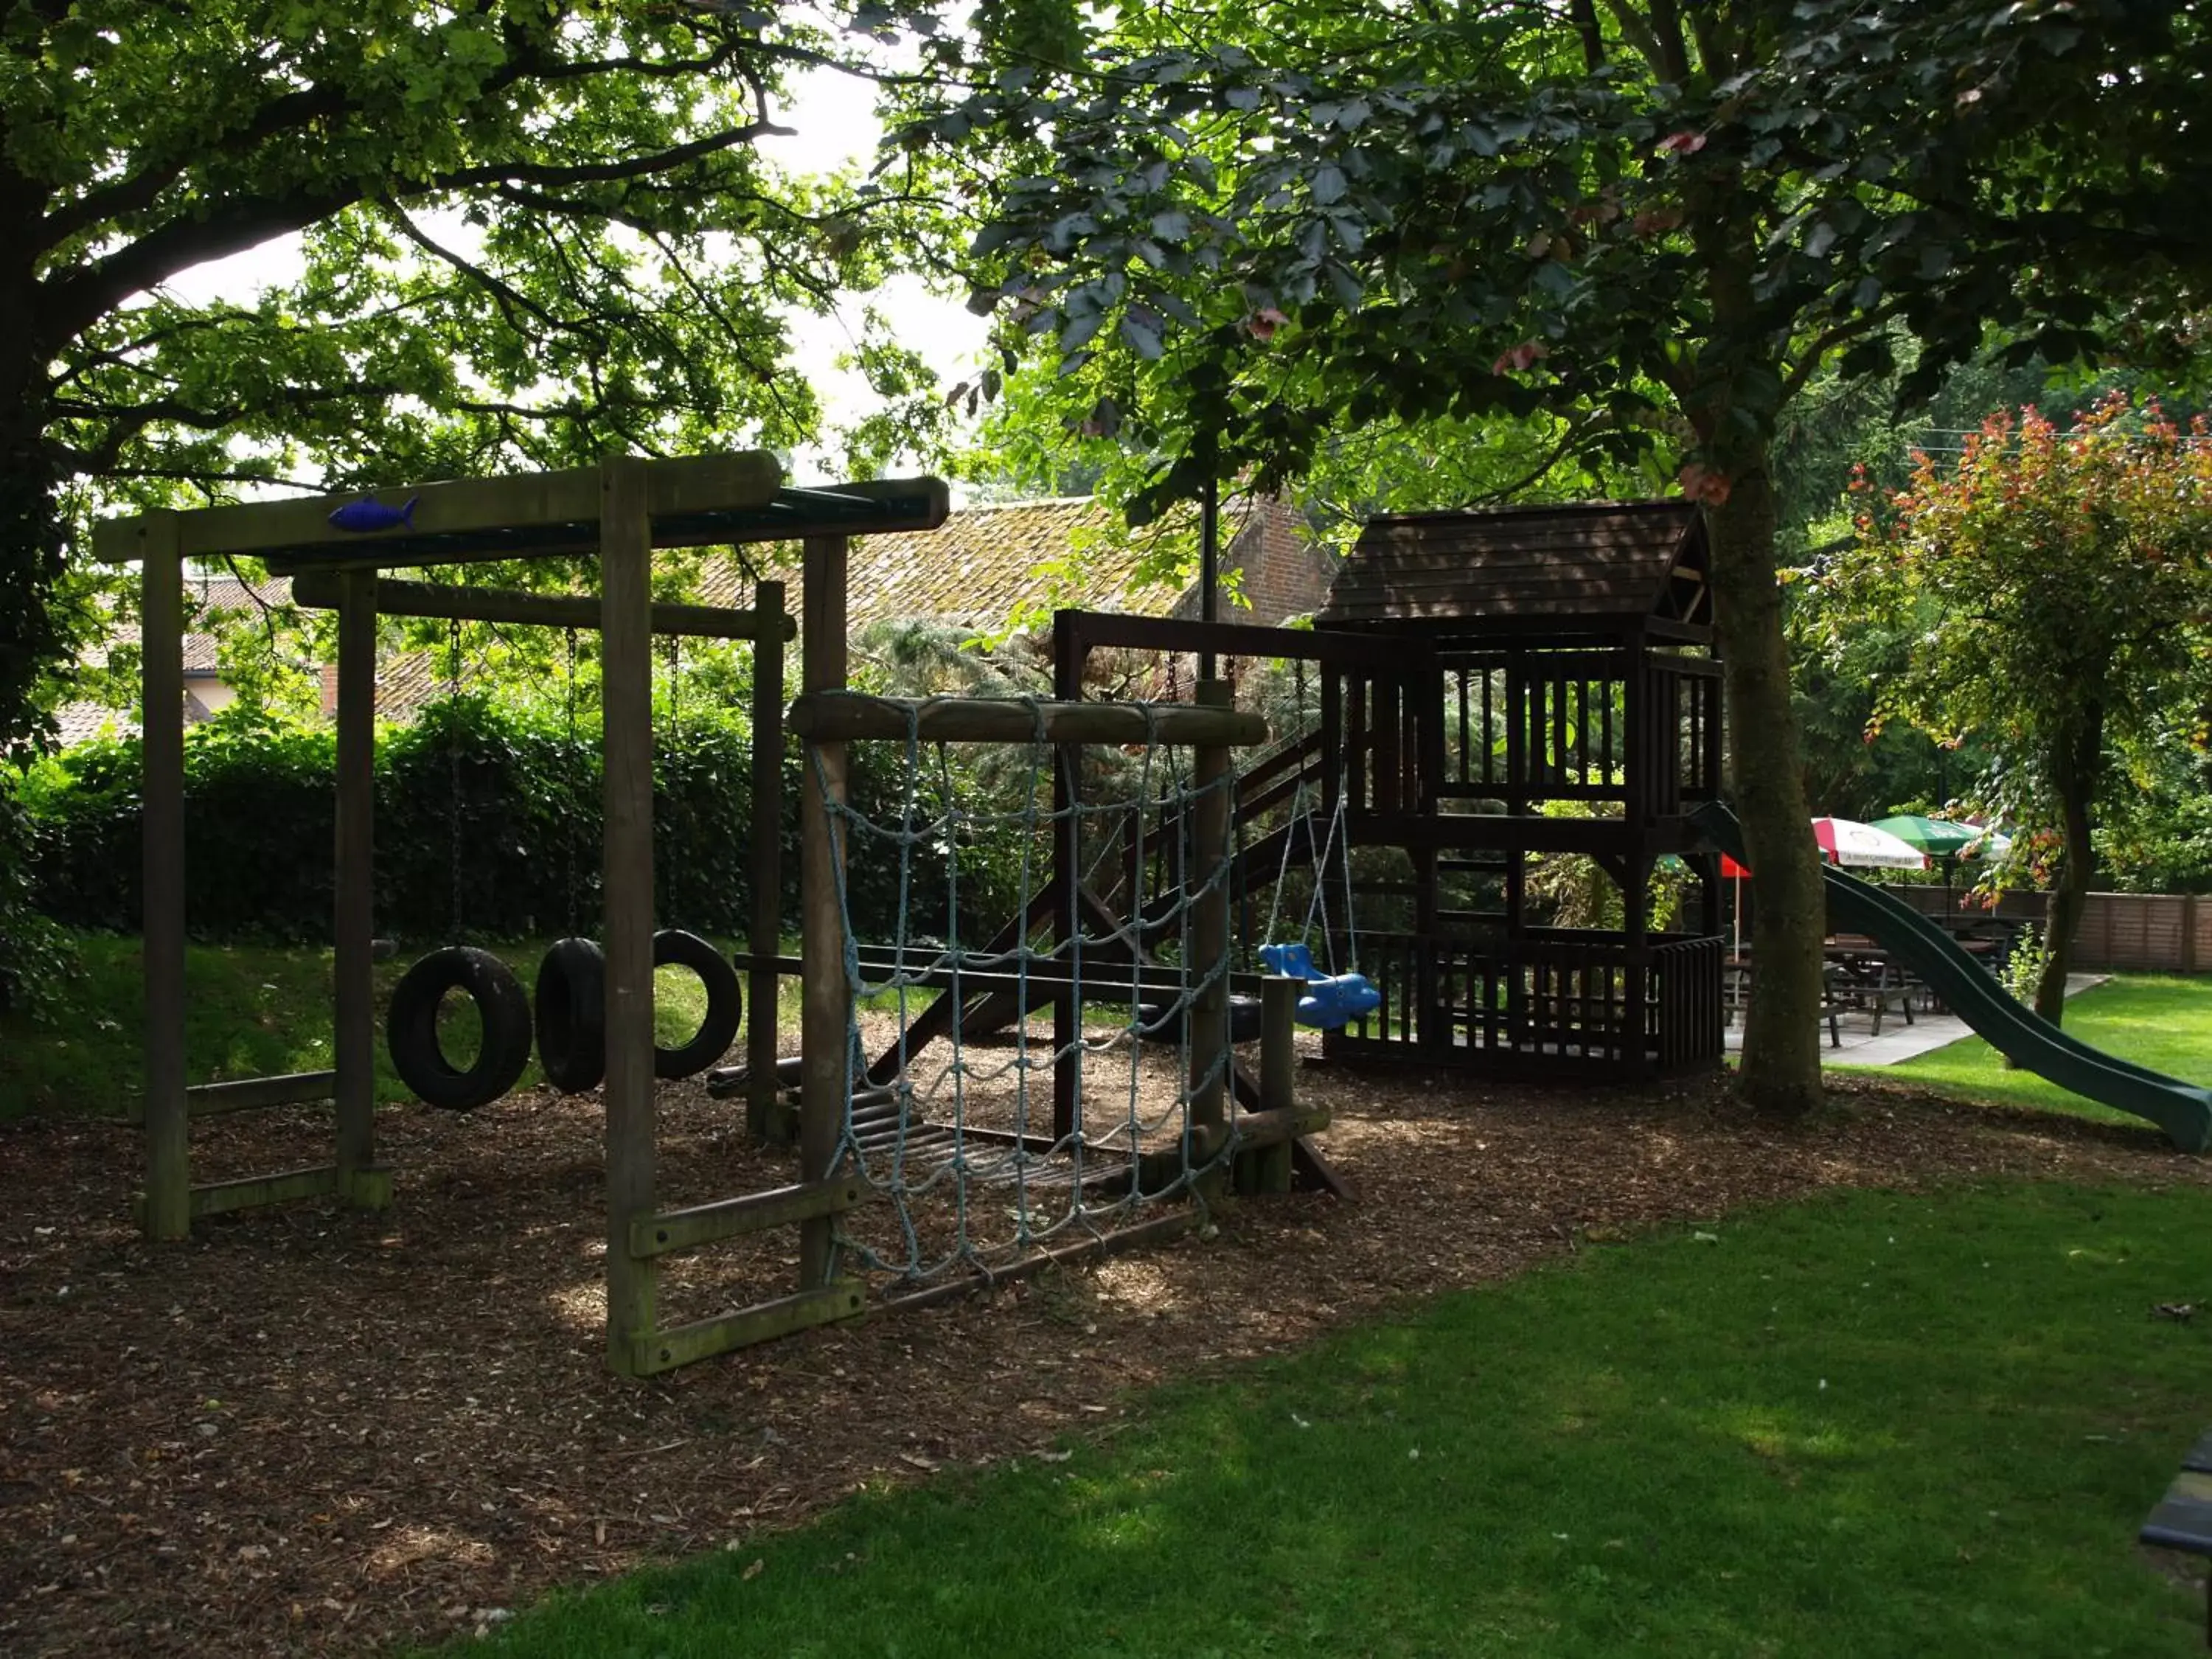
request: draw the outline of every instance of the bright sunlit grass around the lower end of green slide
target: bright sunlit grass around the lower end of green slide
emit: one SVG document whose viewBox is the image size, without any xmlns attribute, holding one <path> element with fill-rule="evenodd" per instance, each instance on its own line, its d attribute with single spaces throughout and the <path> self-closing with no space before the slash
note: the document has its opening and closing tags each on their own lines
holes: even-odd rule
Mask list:
<svg viewBox="0 0 2212 1659">
<path fill-rule="evenodd" d="M 2212 975 L 2159 978 L 2124 973 L 2066 1002 L 2066 1031 L 2139 1066 L 2190 1084 L 2212 1084 Z M 1942 1095 L 2042 1106 L 2101 1124 L 2141 1124 L 2128 1113 L 2070 1095 L 2033 1071 L 2006 1071 L 2004 1057 L 1980 1037 L 1907 1060 L 1902 1066 L 1836 1066 L 1869 1077 L 1920 1084 Z"/>
</svg>

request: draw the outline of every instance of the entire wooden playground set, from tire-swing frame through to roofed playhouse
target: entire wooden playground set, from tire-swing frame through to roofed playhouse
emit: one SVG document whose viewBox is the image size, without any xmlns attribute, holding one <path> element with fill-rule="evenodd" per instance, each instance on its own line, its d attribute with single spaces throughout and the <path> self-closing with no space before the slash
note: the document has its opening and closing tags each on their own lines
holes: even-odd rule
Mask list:
<svg viewBox="0 0 2212 1659">
<path fill-rule="evenodd" d="M 403 493 L 407 502 L 398 504 Z M 604 989 L 599 947 L 562 940 L 555 951 L 582 947 L 595 962 L 588 995 L 571 984 L 562 1006 L 568 1024 L 604 1026 L 595 1035 L 604 1037 L 606 1358 L 615 1371 L 664 1371 L 852 1318 L 872 1292 L 878 1305 L 914 1305 L 1071 1252 L 1159 1239 L 1199 1225 L 1230 1183 L 1241 1192 L 1303 1183 L 1349 1197 L 1307 1139 L 1327 1124 L 1327 1110 L 1294 1099 L 1294 1018 L 1325 1026 L 1323 1053 L 1349 1062 L 1619 1079 L 1719 1064 L 1719 883 L 1688 818 L 1714 796 L 1721 765 L 1719 670 L 1694 509 L 1652 502 L 1376 520 L 1336 584 L 1323 628 L 1062 611 L 1051 699 L 854 692 L 845 637 L 849 538 L 931 529 L 947 511 L 945 484 L 931 478 L 785 489 L 772 458 L 732 453 L 613 458 L 564 473 L 102 524 L 97 553 L 142 566 L 146 626 L 146 1234 L 179 1239 L 199 1217 L 301 1197 L 336 1197 L 354 1208 L 392 1201 L 374 1117 L 378 615 L 602 635 Z M 794 628 L 781 584 L 761 582 L 752 608 L 655 604 L 650 560 L 657 546 L 794 540 L 803 546 L 803 681 L 785 710 L 783 648 Z M 184 737 L 173 710 L 181 706 L 184 564 L 217 553 L 261 557 L 294 577 L 301 604 L 338 617 L 334 1066 L 190 1084 Z M 383 575 L 551 555 L 597 555 L 599 593 L 540 595 Z M 653 1031 L 655 633 L 745 639 L 754 648 L 754 902 L 748 947 L 737 958 L 750 980 L 745 1064 L 721 1073 L 710 1093 L 741 1091 L 748 1130 L 761 1141 L 796 1141 L 799 1155 L 787 1186 L 675 1210 L 657 1201 L 655 1179 L 655 1062 L 666 1053 L 655 1048 Z M 1192 699 L 1086 699 L 1086 664 L 1099 648 L 1166 653 L 1170 664 L 1194 655 Z M 1305 666 L 1316 666 L 1318 721 L 1267 748 L 1267 721 L 1239 710 L 1232 686 L 1217 677 L 1221 657 L 1298 664 L 1301 712 Z M 807 779 L 799 801 L 796 958 L 781 953 L 776 909 L 785 730 L 803 739 Z M 865 810 L 852 801 L 852 743 L 905 750 L 900 801 Z M 942 761 L 949 743 L 1026 752 L 1029 805 L 993 816 L 956 799 L 949 783 L 931 794 L 922 757 Z M 1144 757 L 1133 799 L 1086 799 L 1086 745 Z M 1243 768 L 1239 750 L 1252 752 Z M 1190 757 L 1188 772 L 1177 754 Z M 1166 770 L 1155 772 L 1161 757 Z M 1042 807 L 1046 772 L 1051 805 Z M 1573 803 L 1573 816 L 1562 816 L 1557 803 Z M 960 847 L 989 836 L 1042 852 L 1048 874 L 1024 883 L 1015 916 L 978 945 L 964 945 L 956 922 L 940 933 L 914 918 L 907 891 L 916 849 L 927 843 L 922 856 L 947 858 L 958 878 Z M 1283 978 L 1237 967 L 1239 914 L 1241 945 L 1281 962 L 1274 951 L 1283 947 L 1259 949 L 1250 914 L 1254 894 L 1270 885 L 1281 907 L 1296 852 L 1312 863 L 1310 896 L 1332 975 L 1343 953 L 1354 969 L 1345 982 L 1367 995 L 1356 1018 L 1310 1015 L 1321 969 Z M 1551 854 L 1597 860 L 1619 889 L 1624 925 L 1562 929 L 1533 920 L 1531 860 Z M 898 938 L 889 945 L 858 940 L 845 907 L 849 860 L 863 856 L 898 869 Z M 1703 876 L 1701 931 L 1650 927 L 1646 891 L 1659 858 L 1690 860 Z M 1102 867 L 1110 876 L 1095 880 Z M 1343 905 L 1332 916 L 1327 898 L 1338 874 Z M 1486 894 L 1489 902 L 1467 894 Z M 1396 927 L 1356 920 L 1376 900 L 1398 905 Z M 513 982 L 489 953 L 447 947 L 438 956 L 467 958 L 467 973 Z M 719 956 L 706 967 L 728 971 Z M 484 1046 L 502 998 L 509 1024 L 520 1020 L 522 1046 L 504 1079 L 476 1097 L 438 1102 L 418 1084 L 434 1104 L 462 1108 L 511 1088 L 531 1040 L 520 989 L 487 995 L 467 973 L 451 984 L 484 1011 Z M 776 982 L 785 973 L 796 973 L 803 991 L 794 1057 L 779 1055 L 776 1042 Z M 542 969 L 535 1040 L 549 1075 L 557 1075 L 544 987 Z M 442 1064 L 438 995 L 420 1024 Z M 909 1006 L 909 998 L 922 1006 Z M 858 1011 L 883 1000 L 896 1000 L 898 1018 L 869 1060 Z M 1106 1024 L 1086 1022 L 1086 1006 L 1093 1015 L 1106 1009 Z M 1044 1011 L 1051 1042 L 1035 1060 L 1031 1044 L 1042 1037 L 1031 1020 Z M 398 1029 L 398 995 L 389 1024 Z M 975 1064 L 973 1044 L 1006 1033 L 1015 1057 L 995 1066 L 1004 1086 L 987 1097 L 975 1088 L 987 1068 Z M 1237 1042 L 1259 1042 L 1256 1075 L 1237 1057 Z M 925 1051 L 933 1044 L 951 1060 L 931 1077 Z M 1113 1066 L 1126 1079 L 1119 1115 L 1086 1104 L 1086 1088 L 1106 1099 L 1099 1079 Z M 1051 1071 L 1051 1106 L 1035 1117 L 1031 1068 Z M 597 1071 L 586 1073 L 564 1086 L 588 1088 Z M 796 1084 L 796 1115 L 787 1084 Z M 1155 1093 L 1150 1104 L 1146 1088 Z M 195 1117 L 323 1099 L 334 1104 L 330 1164 L 192 1181 Z M 971 1203 L 987 1188 L 1011 1192 L 1011 1210 L 1004 1199 Z M 847 1219 L 880 1201 L 896 1217 L 891 1232 L 869 1234 Z M 1011 1232 L 987 1237 L 980 1219 L 989 1212 L 1011 1214 Z M 659 1321 L 657 1272 L 666 1256 L 785 1225 L 799 1230 L 796 1285 L 787 1294 L 690 1323 Z M 925 1245 L 929 1225 L 947 1225 L 949 1243 Z"/>
</svg>

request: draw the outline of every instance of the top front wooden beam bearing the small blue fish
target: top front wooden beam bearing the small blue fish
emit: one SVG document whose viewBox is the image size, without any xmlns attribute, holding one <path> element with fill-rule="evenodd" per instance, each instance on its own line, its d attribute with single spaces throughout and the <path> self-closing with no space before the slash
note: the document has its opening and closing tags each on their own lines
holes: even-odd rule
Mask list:
<svg viewBox="0 0 2212 1659">
<path fill-rule="evenodd" d="M 783 467 L 765 449 L 739 449 L 721 456 L 679 456 L 646 460 L 646 511 L 681 515 L 765 507 L 783 484 Z M 380 531 L 343 531 L 330 515 L 363 500 L 403 509 L 414 502 L 405 524 Z M 106 564 L 137 560 L 144 553 L 139 518 L 106 520 L 93 526 L 93 557 Z M 268 549 L 347 546 L 361 549 L 374 562 L 378 542 L 400 542 L 422 535 L 458 535 L 469 531 L 507 531 L 540 524 L 591 524 L 597 542 L 599 469 L 568 467 L 555 473 L 511 473 L 507 478 L 449 478 L 436 484 L 400 484 L 345 495 L 307 495 L 283 502 L 241 502 L 237 507 L 204 507 L 177 513 L 179 553 L 261 553 Z M 389 560 L 398 564 L 400 560 Z"/>
</svg>

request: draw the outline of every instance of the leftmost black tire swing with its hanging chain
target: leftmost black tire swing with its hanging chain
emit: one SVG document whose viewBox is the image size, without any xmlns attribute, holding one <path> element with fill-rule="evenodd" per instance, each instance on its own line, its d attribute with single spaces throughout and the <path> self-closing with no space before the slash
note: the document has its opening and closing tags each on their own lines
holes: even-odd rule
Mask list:
<svg viewBox="0 0 2212 1659">
<path fill-rule="evenodd" d="M 453 622 L 447 657 L 447 710 L 460 699 L 460 622 Z M 460 931 L 460 723 L 449 743 L 451 830 L 453 830 L 453 931 Z M 456 1066 L 438 1040 L 438 1011 L 449 991 L 465 993 L 476 1004 L 482 1037 L 476 1062 Z M 531 1004 L 522 982 L 491 951 L 471 945 L 447 945 L 416 962 L 392 987 L 385 1009 L 385 1048 L 392 1068 L 414 1095 L 449 1113 L 471 1113 L 522 1079 L 531 1062 Z"/>
</svg>

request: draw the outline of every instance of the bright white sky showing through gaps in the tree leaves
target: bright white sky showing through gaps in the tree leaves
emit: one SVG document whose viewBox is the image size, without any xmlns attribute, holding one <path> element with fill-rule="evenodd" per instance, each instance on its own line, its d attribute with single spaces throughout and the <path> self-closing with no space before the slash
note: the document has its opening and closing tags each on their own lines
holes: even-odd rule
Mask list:
<svg viewBox="0 0 2212 1659">
<path fill-rule="evenodd" d="M 792 100 L 776 111 L 776 119 L 796 128 L 796 137 L 763 139 L 761 155 L 794 175 L 867 166 L 883 133 L 874 95 L 867 82 L 834 71 L 812 71 L 794 80 Z M 438 226 L 438 232 L 465 237 L 458 221 Z M 208 303 L 296 276 L 299 239 L 279 237 L 243 254 L 197 265 L 166 288 L 181 301 Z M 876 403 L 858 374 L 836 367 L 838 354 L 858 338 L 860 312 L 869 305 L 891 321 L 900 343 L 918 349 L 947 387 L 969 376 L 984 343 L 987 319 L 971 316 L 958 299 L 931 296 L 918 276 L 896 276 L 869 294 L 849 294 L 836 316 L 792 314 L 792 367 L 821 394 L 830 427 L 867 416 Z M 838 471 L 834 456 L 801 451 L 792 465 L 792 482 L 836 482 Z"/>
</svg>

